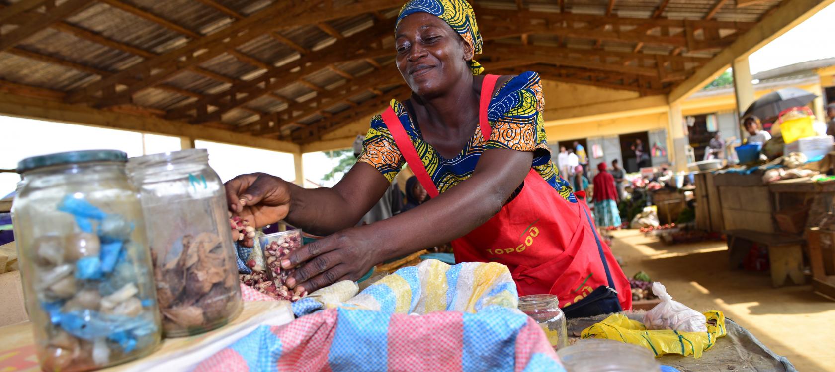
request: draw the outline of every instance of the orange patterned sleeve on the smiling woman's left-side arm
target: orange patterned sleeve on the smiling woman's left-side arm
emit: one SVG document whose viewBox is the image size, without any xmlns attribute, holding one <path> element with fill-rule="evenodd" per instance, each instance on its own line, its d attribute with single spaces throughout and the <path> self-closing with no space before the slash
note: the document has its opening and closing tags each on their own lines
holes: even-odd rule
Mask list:
<svg viewBox="0 0 835 372">
<path fill-rule="evenodd" d="M 392 100 L 392 104 L 394 103 L 395 101 Z M 394 143 L 392 133 L 388 132 L 386 123 L 383 123 L 380 115 L 371 119 L 371 128 L 368 128 L 366 139 L 362 142 L 362 153 L 357 158 L 357 162 L 371 164 L 386 177 L 388 182 L 392 182 L 394 176 L 397 176 L 402 168 L 404 160 L 400 149 Z"/>
</svg>

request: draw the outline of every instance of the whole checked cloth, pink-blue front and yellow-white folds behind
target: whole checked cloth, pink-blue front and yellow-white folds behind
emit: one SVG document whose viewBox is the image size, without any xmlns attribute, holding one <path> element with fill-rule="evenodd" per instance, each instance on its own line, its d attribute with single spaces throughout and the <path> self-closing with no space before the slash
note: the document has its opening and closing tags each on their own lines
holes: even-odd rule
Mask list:
<svg viewBox="0 0 835 372">
<path fill-rule="evenodd" d="M 299 319 L 261 326 L 195 370 L 564 371 L 518 301 L 504 265 L 428 260 L 347 301 L 302 299 Z"/>
</svg>

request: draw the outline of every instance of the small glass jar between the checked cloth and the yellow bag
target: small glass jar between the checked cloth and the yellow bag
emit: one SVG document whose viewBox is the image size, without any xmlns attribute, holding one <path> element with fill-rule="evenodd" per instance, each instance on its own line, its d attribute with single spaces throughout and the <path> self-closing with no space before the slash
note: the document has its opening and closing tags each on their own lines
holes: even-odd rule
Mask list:
<svg viewBox="0 0 835 372">
<path fill-rule="evenodd" d="M 565 314 L 559 309 L 559 300 L 555 294 L 530 294 L 519 297 L 519 310 L 539 324 L 554 350 L 564 348 L 568 344 Z"/>
</svg>

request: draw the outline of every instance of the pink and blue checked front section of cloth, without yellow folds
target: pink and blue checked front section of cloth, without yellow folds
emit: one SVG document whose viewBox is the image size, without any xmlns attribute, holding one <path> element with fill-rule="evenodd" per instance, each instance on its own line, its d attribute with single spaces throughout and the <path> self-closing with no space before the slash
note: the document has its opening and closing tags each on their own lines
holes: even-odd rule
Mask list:
<svg viewBox="0 0 835 372">
<path fill-rule="evenodd" d="M 195 370 L 564 371 L 533 319 L 495 306 L 426 315 L 326 309 L 261 326 Z"/>
</svg>

